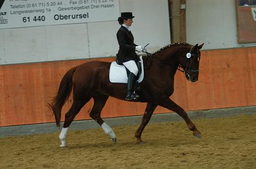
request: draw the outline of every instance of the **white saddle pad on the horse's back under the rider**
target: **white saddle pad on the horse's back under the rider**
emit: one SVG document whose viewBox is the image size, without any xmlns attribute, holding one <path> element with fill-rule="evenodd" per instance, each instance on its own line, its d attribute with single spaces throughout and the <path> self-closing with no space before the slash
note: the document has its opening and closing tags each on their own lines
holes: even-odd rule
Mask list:
<svg viewBox="0 0 256 169">
<path fill-rule="evenodd" d="M 137 82 L 142 82 L 144 78 L 144 69 L 143 69 L 143 60 L 142 56 L 139 57 L 140 62 L 142 63 L 142 73 L 139 75 Z M 109 81 L 112 83 L 127 83 L 128 77 L 124 65 L 118 65 L 116 61 L 113 61 L 110 65 L 109 70 Z"/>
</svg>

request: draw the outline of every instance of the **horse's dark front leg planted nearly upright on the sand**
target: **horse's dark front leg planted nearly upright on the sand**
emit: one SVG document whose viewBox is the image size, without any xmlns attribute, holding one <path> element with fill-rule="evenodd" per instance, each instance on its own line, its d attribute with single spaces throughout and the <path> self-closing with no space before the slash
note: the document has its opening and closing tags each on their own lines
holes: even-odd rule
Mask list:
<svg viewBox="0 0 256 169">
<path fill-rule="evenodd" d="M 156 106 L 157 106 L 156 104 L 151 104 L 151 103 L 147 104 L 147 108 L 143 115 L 142 123 L 140 123 L 138 130 L 136 130 L 136 132 L 135 132 L 135 137 L 137 139 L 136 144 L 143 144 L 143 141 L 141 139 L 142 132 L 143 132 L 145 126 L 147 125 L 147 123 L 150 121 L 150 118 L 151 118 L 154 110 L 156 109 Z"/>
</svg>

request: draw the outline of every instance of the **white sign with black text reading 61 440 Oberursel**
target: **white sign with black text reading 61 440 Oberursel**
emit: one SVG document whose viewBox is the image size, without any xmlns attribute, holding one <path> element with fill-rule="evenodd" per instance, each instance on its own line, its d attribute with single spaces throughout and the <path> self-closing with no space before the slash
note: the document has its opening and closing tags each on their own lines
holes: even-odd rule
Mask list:
<svg viewBox="0 0 256 169">
<path fill-rule="evenodd" d="M 5 0 L 0 29 L 111 21 L 119 16 L 118 0 Z"/>
</svg>

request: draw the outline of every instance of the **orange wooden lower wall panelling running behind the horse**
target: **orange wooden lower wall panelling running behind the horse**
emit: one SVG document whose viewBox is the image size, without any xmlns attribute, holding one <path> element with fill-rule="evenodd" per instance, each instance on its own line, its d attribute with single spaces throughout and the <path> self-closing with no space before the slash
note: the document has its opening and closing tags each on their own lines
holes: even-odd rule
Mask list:
<svg viewBox="0 0 256 169">
<path fill-rule="evenodd" d="M 54 61 L 47 63 L 0 66 L 0 126 L 54 122 L 47 103 L 57 92 L 63 75 L 81 63 L 114 58 Z M 184 74 L 176 73 L 175 90 L 171 99 L 185 110 L 204 110 L 256 105 L 256 47 L 202 51 L 199 81 L 186 81 Z M 70 108 L 72 97 L 65 104 L 64 114 Z M 89 118 L 93 100 L 84 106 L 75 118 Z M 128 103 L 110 98 L 102 117 L 141 115 L 145 103 Z M 157 107 L 155 113 L 170 112 Z"/>
</svg>

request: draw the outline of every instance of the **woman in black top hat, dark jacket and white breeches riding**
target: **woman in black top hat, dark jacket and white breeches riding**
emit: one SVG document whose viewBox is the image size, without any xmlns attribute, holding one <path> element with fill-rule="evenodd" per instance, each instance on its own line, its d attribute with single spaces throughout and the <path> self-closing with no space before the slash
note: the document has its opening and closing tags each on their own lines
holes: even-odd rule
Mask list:
<svg viewBox="0 0 256 169">
<path fill-rule="evenodd" d="M 119 64 L 125 65 L 130 71 L 127 82 L 127 96 L 125 100 L 135 100 L 139 96 L 134 94 L 134 86 L 136 82 L 136 76 L 138 75 L 138 67 L 135 63 L 137 60 L 136 51 L 143 51 L 142 46 L 134 44 L 134 37 L 131 33 L 130 26 L 133 23 L 132 12 L 122 12 L 121 17 L 118 17 L 118 23 L 121 28 L 117 32 L 117 41 L 119 43 L 119 51 L 117 54 L 117 60 Z"/>
</svg>

